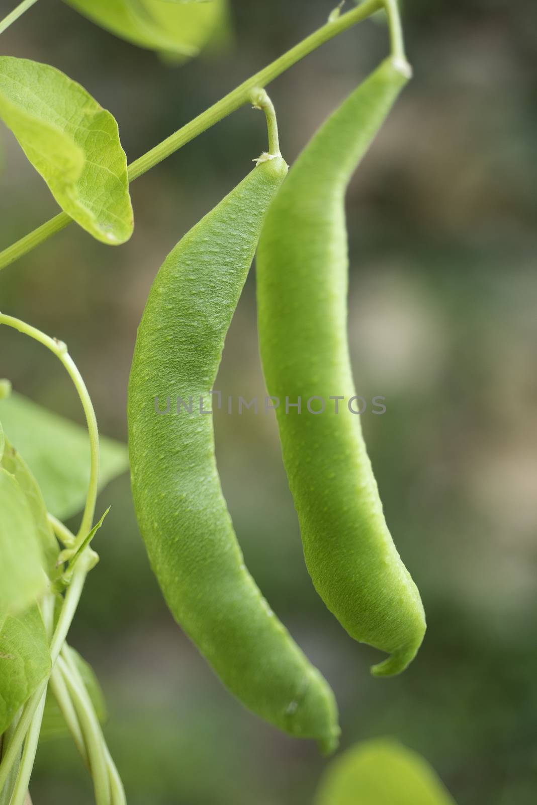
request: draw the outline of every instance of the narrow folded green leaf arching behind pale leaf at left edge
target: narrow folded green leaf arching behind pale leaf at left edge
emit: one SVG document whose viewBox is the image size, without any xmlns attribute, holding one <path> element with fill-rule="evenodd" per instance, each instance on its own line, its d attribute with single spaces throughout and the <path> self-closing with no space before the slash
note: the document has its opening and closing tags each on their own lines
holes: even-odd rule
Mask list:
<svg viewBox="0 0 537 805">
<path fill-rule="evenodd" d="M 39 489 L 37 481 L 35 481 L 35 477 L 31 474 L 30 469 L 23 460 L 23 457 L 10 445 L 6 437 L 4 437 L 4 442 L 4 452 L 3 455 L 0 456 L 0 466 L 15 477 L 18 481 L 18 485 L 23 490 L 28 506 L 30 506 L 32 517 L 34 518 L 35 531 L 39 543 L 41 544 L 41 550 L 43 551 L 45 567 L 48 570 L 49 576 L 52 578 L 56 573 L 55 566 L 58 559 L 59 547 L 51 524 L 47 519 L 47 506 L 45 506 L 43 494 L 41 493 L 41 489 Z"/>
</svg>

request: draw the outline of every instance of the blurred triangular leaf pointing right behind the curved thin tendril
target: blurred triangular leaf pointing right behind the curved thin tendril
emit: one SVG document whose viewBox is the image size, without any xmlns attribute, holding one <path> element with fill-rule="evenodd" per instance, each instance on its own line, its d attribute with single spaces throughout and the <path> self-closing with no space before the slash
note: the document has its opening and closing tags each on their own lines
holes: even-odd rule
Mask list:
<svg viewBox="0 0 537 805">
<path fill-rule="evenodd" d="M 80 511 L 89 482 L 89 436 L 84 427 L 22 394 L 0 400 L 0 420 L 10 443 L 26 460 L 47 510 L 60 520 Z M 125 444 L 100 437 L 100 487 L 129 467 Z"/>
</svg>

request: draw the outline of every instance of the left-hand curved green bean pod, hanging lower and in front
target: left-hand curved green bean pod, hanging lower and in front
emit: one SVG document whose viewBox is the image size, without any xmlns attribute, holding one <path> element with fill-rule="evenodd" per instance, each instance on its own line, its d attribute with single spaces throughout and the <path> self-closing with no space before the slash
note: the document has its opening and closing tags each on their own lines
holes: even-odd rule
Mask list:
<svg viewBox="0 0 537 805">
<path fill-rule="evenodd" d="M 246 707 L 329 752 L 339 733 L 334 695 L 244 566 L 206 415 L 264 213 L 286 173 L 281 156 L 258 164 L 162 264 L 137 332 L 129 452 L 141 534 L 174 617 Z"/>
</svg>

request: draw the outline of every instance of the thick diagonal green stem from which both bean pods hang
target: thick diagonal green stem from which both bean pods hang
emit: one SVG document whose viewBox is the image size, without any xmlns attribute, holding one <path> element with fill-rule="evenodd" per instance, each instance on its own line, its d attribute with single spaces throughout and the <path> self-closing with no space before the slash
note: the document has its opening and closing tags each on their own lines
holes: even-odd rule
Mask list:
<svg viewBox="0 0 537 805">
<path fill-rule="evenodd" d="M 256 72 L 255 75 L 248 78 L 236 87 L 236 89 L 233 89 L 231 93 L 225 95 L 214 105 L 210 106 L 209 109 L 206 109 L 202 114 L 199 114 L 196 118 L 191 120 L 191 122 L 187 123 L 186 126 L 182 126 L 182 128 L 178 129 L 174 134 L 171 134 L 170 137 L 166 138 L 157 146 L 151 148 L 150 151 L 147 151 L 146 154 L 131 163 L 128 167 L 129 182 L 138 179 L 139 176 L 149 171 L 155 165 L 158 165 L 158 163 L 161 163 L 163 159 L 174 154 L 175 151 L 178 151 L 178 149 L 186 145 L 187 142 L 190 142 L 199 134 L 202 134 L 203 131 L 211 128 L 211 126 L 215 126 L 215 123 L 228 117 L 228 114 L 232 114 L 236 109 L 240 109 L 240 106 L 248 103 L 252 89 L 270 84 L 270 82 L 274 81 L 282 72 L 288 70 L 293 64 L 296 64 L 297 61 L 308 56 L 309 53 L 316 50 L 322 44 L 328 42 L 330 39 L 334 39 L 334 36 L 341 34 L 348 28 L 356 25 L 356 23 L 361 23 L 364 19 L 367 19 L 367 17 L 371 17 L 371 14 L 375 14 L 375 11 L 379 11 L 383 7 L 388 9 L 388 6 L 388 13 L 391 14 L 391 19 L 395 15 L 395 19 L 398 20 L 399 11 L 395 0 L 365 0 L 365 2 L 361 3 L 356 8 L 347 11 L 346 14 L 339 14 L 338 16 L 330 15 L 330 19 L 326 25 L 323 25 L 321 28 L 318 28 L 317 31 L 314 31 L 313 34 L 302 39 L 300 43 L 284 53 L 283 56 L 280 56 L 279 59 L 268 64 L 267 67 L 259 72 Z M 393 31 L 393 26 L 391 26 L 391 30 Z M 398 37 L 395 36 L 395 43 L 397 44 L 397 42 Z M 394 47 L 394 37 L 392 37 L 392 47 Z M 8 246 L 7 249 L 0 252 L 0 269 L 9 266 L 10 263 L 23 257 L 23 254 L 27 254 L 32 249 L 35 249 L 35 246 L 38 246 L 39 243 L 43 243 L 51 237 L 51 235 L 59 232 L 61 229 L 64 229 L 71 221 L 72 218 L 69 217 L 67 213 L 59 213 L 54 218 L 51 218 L 50 221 L 47 221 L 37 229 L 34 229 L 33 232 L 22 237 L 19 241 Z"/>
</svg>

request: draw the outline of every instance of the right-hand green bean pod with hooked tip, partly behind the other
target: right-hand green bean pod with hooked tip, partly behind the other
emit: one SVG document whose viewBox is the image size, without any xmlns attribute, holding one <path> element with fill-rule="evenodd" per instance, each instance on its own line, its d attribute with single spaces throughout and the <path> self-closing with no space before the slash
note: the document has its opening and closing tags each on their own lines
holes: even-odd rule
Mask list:
<svg viewBox="0 0 537 805">
<path fill-rule="evenodd" d="M 260 353 L 268 394 L 281 401 L 277 422 L 305 562 L 350 636 L 391 654 L 374 675 L 404 671 L 425 619 L 383 517 L 360 418 L 348 407 L 355 386 L 344 200 L 409 75 L 406 63 L 385 60 L 314 134 L 268 210 L 257 252 Z M 330 397 L 338 395 L 345 399 L 336 413 Z M 297 398 L 300 413 L 291 407 Z M 325 411 L 310 413 L 310 398 L 322 398 Z"/>
</svg>

